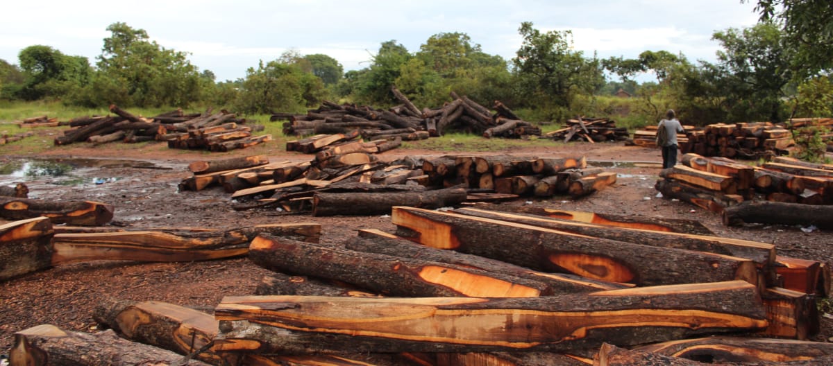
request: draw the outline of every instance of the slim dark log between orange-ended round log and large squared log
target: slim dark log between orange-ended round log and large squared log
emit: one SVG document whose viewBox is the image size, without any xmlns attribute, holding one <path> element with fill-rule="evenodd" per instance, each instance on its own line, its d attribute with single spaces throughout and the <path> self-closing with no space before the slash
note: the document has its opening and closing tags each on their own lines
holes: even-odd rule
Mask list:
<svg viewBox="0 0 833 366">
<path fill-rule="evenodd" d="M 549 285 L 555 294 L 593 292 L 604 289 L 623 289 L 627 287 L 624 284 L 586 279 L 574 275 L 536 272 L 521 266 L 510 265 L 501 260 L 490 260 L 488 258 L 481 257 L 480 255 L 466 255 L 453 250 L 438 250 L 436 248 L 416 244 L 411 240 L 401 238 L 397 235 L 388 234 L 374 229 L 359 230 L 359 235 L 345 241 L 344 245 L 349 250 L 460 265 L 466 268 L 486 270 L 522 279 L 541 281 Z"/>
</svg>

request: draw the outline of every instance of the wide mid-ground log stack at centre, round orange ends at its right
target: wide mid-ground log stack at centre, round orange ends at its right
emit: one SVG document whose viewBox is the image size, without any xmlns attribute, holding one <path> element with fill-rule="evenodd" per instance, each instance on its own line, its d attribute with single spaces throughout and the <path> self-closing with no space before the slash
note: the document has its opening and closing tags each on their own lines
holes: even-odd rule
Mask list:
<svg viewBox="0 0 833 366">
<path fill-rule="evenodd" d="M 365 143 L 367 144 L 367 143 Z M 521 196 L 591 195 L 616 173 L 581 158 L 441 156 L 382 162 L 366 152 L 319 151 L 312 161 L 270 163 L 265 156 L 195 161 L 180 190 L 222 185 L 238 210 L 279 207 L 312 215 L 384 215 L 394 205 L 439 208 Z"/>
</svg>

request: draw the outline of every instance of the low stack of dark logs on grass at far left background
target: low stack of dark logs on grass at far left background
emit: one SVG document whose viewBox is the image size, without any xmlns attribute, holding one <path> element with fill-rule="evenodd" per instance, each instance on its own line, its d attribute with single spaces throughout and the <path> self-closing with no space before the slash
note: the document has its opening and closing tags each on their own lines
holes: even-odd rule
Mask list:
<svg viewBox="0 0 833 366">
<path fill-rule="evenodd" d="M 116 116 L 84 116 L 68 122 L 73 127 L 55 137 L 55 145 L 87 141 L 103 144 L 112 141 L 167 141 L 168 147 L 229 151 L 271 141 L 271 135 L 252 136 L 263 126 L 238 126 L 246 123 L 234 113 L 183 114 L 182 110 L 162 113 L 150 118 L 134 116 L 111 105 Z"/>
</svg>

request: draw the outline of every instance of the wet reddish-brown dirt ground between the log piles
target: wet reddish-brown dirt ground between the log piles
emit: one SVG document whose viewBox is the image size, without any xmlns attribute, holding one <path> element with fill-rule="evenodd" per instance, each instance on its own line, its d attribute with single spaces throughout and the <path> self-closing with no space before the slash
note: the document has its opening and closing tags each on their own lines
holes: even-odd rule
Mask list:
<svg viewBox="0 0 833 366">
<path fill-rule="evenodd" d="M 309 161 L 312 156 L 282 151 L 281 146 L 257 150 L 270 161 Z M 448 153 L 396 149 L 382 160 L 402 156 L 441 156 Z M 556 196 L 547 200 L 516 200 L 505 205 L 542 205 L 563 210 L 590 210 L 617 215 L 648 215 L 700 220 L 716 235 L 757 240 L 776 245 L 779 255 L 831 263 L 833 233 L 797 226 L 747 225 L 726 227 L 718 215 L 679 201 L 656 198 L 661 163 L 660 151 L 623 143 L 553 144 L 551 147 L 491 152 L 516 156 L 586 156 L 591 165 L 606 166 L 619 174 L 616 185 L 581 200 Z M 276 210 L 232 210 L 234 202 L 219 188 L 199 192 L 177 191 L 190 175 L 187 164 L 230 156 L 254 155 L 252 151 L 223 154 L 157 149 L 108 149 L 79 146 L 47 151 L 32 158 L 48 158 L 77 166 L 69 177 L 17 178 L 0 176 L 0 183 L 25 181 L 30 198 L 47 200 L 97 200 L 115 205 L 113 223 L 133 228 L 236 227 L 280 222 L 317 222 L 322 242 L 339 243 L 355 230 L 395 230 L 389 216 L 312 217 L 282 215 Z M 466 155 L 454 153 L 451 155 Z M 18 158 L 3 157 L 3 161 Z M 652 162 L 655 164 L 624 164 Z M 95 184 L 94 178 L 105 180 Z M 109 179 L 107 179 L 109 178 Z M 67 180 L 70 183 L 67 184 Z M 74 182 L 74 183 L 73 183 Z M 805 229 L 805 230 L 802 230 Z M 7 260 L 7 259 L 0 259 Z M 14 332 L 37 324 L 56 324 L 64 329 L 94 331 L 92 309 L 102 299 L 157 300 L 207 312 L 227 295 L 254 294 L 268 271 L 247 258 L 190 263 L 140 264 L 101 261 L 62 265 L 0 283 L 0 354 L 7 354 Z M 822 314 L 818 341 L 833 341 L 833 321 Z"/>
</svg>

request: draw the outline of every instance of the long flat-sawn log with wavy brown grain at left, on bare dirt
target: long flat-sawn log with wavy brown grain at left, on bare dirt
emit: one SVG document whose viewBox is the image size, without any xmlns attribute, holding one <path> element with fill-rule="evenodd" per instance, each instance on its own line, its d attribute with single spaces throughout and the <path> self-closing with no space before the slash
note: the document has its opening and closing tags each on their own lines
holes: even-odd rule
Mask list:
<svg viewBox="0 0 833 366">
<path fill-rule="evenodd" d="M 231 230 L 176 232 L 124 231 L 58 234 L 52 240 L 52 265 L 87 260 L 177 262 L 216 260 L 246 255 L 249 243 L 261 233 L 317 241 L 321 225 L 271 224 Z"/>
</svg>

